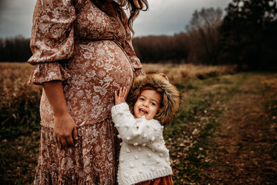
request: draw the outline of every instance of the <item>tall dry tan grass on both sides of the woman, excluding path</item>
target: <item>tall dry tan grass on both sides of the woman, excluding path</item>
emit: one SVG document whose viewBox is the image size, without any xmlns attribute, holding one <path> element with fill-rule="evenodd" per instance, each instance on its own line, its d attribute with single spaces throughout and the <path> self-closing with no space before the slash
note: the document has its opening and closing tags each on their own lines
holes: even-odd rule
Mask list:
<svg viewBox="0 0 277 185">
<path fill-rule="evenodd" d="M 143 64 L 146 73 L 165 73 L 172 83 L 205 79 L 234 73 L 235 66 L 205 66 L 193 64 Z M 42 87 L 28 85 L 33 66 L 28 63 L 0 63 L 0 121 L 3 131 L 9 125 L 34 124 Z M 31 111 L 32 110 L 32 111 Z M 35 112 L 33 114 L 33 112 Z M 28 114 L 27 114 L 28 113 Z M 22 117 L 23 116 L 23 117 Z"/>
</svg>

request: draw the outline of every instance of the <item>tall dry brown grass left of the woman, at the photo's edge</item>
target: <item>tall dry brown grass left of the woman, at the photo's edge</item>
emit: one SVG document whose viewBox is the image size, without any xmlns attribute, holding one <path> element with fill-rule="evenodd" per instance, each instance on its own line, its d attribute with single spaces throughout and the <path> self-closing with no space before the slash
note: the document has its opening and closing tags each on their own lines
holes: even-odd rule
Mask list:
<svg viewBox="0 0 277 185">
<path fill-rule="evenodd" d="M 1 137 L 16 136 L 18 127 L 35 126 L 39 121 L 41 87 L 28 85 L 33 67 L 24 63 L 0 63 Z M 14 129 L 11 130 L 11 127 Z M 27 130 L 27 129 L 25 129 Z"/>
</svg>

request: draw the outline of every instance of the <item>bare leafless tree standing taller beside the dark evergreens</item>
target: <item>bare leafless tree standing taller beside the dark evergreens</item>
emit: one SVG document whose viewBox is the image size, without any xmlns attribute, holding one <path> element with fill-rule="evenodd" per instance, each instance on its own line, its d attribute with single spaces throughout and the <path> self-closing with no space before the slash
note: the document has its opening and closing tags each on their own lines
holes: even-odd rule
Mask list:
<svg viewBox="0 0 277 185">
<path fill-rule="evenodd" d="M 221 8 L 202 8 L 195 10 L 190 24 L 186 26 L 190 35 L 190 56 L 188 60 L 193 63 L 217 63 L 219 49 L 218 28 L 222 24 Z"/>
</svg>

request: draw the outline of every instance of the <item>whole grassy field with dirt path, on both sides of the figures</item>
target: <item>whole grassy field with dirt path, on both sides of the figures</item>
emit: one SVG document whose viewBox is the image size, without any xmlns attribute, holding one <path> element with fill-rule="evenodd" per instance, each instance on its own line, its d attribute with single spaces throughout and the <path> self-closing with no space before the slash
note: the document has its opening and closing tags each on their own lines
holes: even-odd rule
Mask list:
<svg viewBox="0 0 277 185">
<path fill-rule="evenodd" d="M 39 150 L 39 87 L 32 67 L 0 64 L 0 181 L 31 184 Z M 235 67 L 143 64 L 181 91 L 165 130 L 175 184 L 277 183 L 277 75 Z M 159 69 L 159 71 L 157 70 Z"/>
</svg>

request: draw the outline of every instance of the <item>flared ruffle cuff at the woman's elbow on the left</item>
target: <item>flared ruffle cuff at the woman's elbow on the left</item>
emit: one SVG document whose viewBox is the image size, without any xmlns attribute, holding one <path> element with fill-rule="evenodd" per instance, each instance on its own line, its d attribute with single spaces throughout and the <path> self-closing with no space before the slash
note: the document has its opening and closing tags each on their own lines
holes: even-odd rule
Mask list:
<svg viewBox="0 0 277 185">
<path fill-rule="evenodd" d="M 42 85 L 43 82 L 64 81 L 69 77 L 69 73 L 66 73 L 60 62 L 44 62 L 36 64 L 28 83 L 30 85 Z"/>
</svg>

